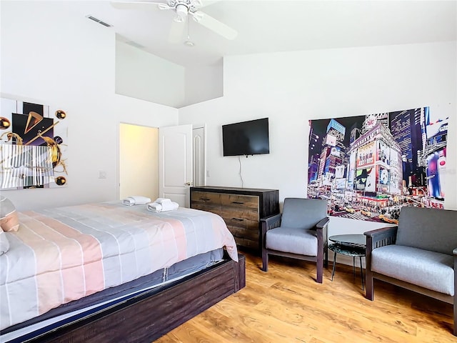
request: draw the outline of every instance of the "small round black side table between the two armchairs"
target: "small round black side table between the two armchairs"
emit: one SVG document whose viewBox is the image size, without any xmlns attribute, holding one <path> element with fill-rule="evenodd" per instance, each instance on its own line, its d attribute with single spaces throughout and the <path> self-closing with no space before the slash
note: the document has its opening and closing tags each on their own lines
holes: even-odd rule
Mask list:
<svg viewBox="0 0 457 343">
<path fill-rule="evenodd" d="M 333 244 L 328 245 L 328 249 L 333 252 L 333 269 L 331 271 L 331 281 L 335 274 L 336 255 L 346 255 L 352 257 L 352 270 L 354 277 L 356 277 L 356 257 L 360 259 L 360 274 L 362 279 L 363 290 L 363 268 L 362 257 L 365 257 L 366 251 L 366 237 L 363 234 L 338 234 L 336 236 L 328 237 Z"/>
</svg>

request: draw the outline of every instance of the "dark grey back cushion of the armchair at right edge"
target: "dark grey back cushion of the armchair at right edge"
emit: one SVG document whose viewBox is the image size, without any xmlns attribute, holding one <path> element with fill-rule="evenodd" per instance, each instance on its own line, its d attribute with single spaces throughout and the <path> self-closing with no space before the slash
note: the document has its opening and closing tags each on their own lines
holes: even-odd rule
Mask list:
<svg viewBox="0 0 457 343">
<path fill-rule="evenodd" d="M 457 247 L 457 211 L 402 207 L 396 244 L 452 254 Z"/>
</svg>

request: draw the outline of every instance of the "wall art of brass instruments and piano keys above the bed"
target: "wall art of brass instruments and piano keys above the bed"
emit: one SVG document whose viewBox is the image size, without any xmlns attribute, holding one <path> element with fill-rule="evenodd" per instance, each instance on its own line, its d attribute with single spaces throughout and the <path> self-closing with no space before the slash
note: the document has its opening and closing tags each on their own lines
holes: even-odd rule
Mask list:
<svg viewBox="0 0 457 343">
<path fill-rule="evenodd" d="M 65 119 L 63 109 L 1 98 L 0 190 L 66 187 Z"/>
</svg>

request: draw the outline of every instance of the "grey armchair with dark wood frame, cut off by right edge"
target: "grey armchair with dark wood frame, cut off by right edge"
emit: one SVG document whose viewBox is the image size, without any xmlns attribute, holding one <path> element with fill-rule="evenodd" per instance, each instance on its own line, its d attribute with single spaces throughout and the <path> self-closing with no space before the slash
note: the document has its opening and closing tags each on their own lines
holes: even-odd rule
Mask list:
<svg viewBox="0 0 457 343">
<path fill-rule="evenodd" d="M 373 279 L 453 304 L 457 335 L 457 211 L 402 207 L 398 227 L 366 235 L 366 298 Z"/>
</svg>

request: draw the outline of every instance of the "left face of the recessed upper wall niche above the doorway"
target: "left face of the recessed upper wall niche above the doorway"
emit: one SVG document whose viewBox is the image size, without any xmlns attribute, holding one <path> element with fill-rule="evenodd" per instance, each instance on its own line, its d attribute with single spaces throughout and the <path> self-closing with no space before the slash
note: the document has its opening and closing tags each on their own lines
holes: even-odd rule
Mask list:
<svg viewBox="0 0 457 343">
<path fill-rule="evenodd" d="M 185 78 L 184 66 L 116 39 L 116 94 L 178 108 Z"/>
</svg>

